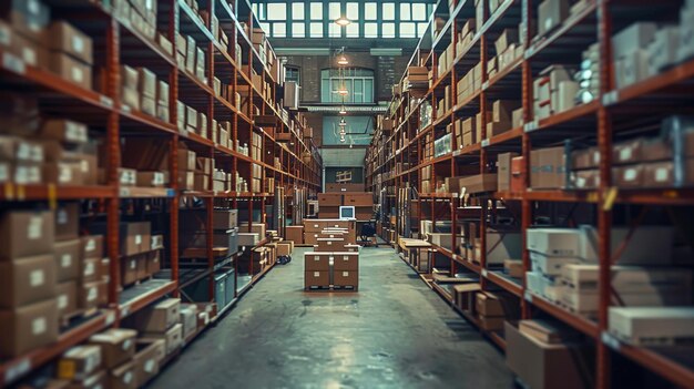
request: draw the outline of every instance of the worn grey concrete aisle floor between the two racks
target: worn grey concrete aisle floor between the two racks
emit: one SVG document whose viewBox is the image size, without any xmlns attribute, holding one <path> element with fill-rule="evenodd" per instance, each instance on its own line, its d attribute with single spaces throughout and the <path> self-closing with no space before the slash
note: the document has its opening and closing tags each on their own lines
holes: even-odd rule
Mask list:
<svg viewBox="0 0 694 389">
<path fill-rule="evenodd" d="M 305 293 L 277 265 L 152 388 L 511 388 L 503 355 L 390 248 L 363 248 L 358 293 Z"/>
</svg>

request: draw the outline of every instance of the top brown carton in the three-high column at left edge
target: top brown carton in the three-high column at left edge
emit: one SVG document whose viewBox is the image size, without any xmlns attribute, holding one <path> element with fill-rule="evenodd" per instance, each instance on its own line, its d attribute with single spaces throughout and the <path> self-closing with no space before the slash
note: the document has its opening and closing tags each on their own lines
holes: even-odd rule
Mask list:
<svg viewBox="0 0 694 389">
<path fill-rule="evenodd" d="M 0 216 L 0 262 L 52 253 L 52 212 L 8 211 Z"/>
</svg>

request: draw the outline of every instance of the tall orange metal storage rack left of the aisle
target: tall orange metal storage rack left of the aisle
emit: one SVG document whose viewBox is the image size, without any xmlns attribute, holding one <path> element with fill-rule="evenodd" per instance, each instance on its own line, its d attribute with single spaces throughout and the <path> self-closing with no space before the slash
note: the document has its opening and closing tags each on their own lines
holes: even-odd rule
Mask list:
<svg viewBox="0 0 694 389">
<path fill-rule="evenodd" d="M 116 16 L 115 7 L 120 1 L 45 1 L 54 19 L 72 23 L 93 39 L 96 53 L 94 57 L 98 62 L 94 64 L 94 84 L 100 85 L 101 92 L 98 92 L 96 88 L 85 89 L 65 81 L 42 65 L 30 65 L 19 57 L 0 49 L 0 58 L 2 58 L 0 65 L 2 86 L 0 88 L 3 91 L 12 89 L 13 92 L 24 93 L 28 96 L 38 96 L 43 113 L 88 124 L 91 133 L 101 139 L 102 151 L 106 153 L 105 184 L 98 186 L 0 184 L 0 201 L 3 207 L 9 208 L 54 208 L 59 202 L 63 201 L 83 201 L 91 204 L 90 209 L 94 212 L 82 215 L 82 218 L 105 218 L 106 256 L 110 258 L 109 276 L 111 279 L 108 306 L 64 329 L 57 342 L 11 360 L 0 360 L 0 386 L 9 386 L 18 381 L 90 336 L 109 327 L 118 327 L 121 319 L 162 297 L 178 295 L 178 212 L 180 205 L 185 199 L 196 198 L 204 203 L 207 209 L 206 229 L 211 232 L 214 206 L 235 209 L 244 206 L 247 207 L 249 214 L 253 214 L 254 208 L 259 208 L 261 214 L 264 215 L 265 206 L 272 204 L 275 193 L 288 193 L 289 202 L 302 204 L 304 199 L 293 198 L 292 194 L 316 194 L 320 190 L 322 161 L 310 136 L 304 136 L 304 132 L 308 131 L 305 123 L 300 123 L 294 114 L 286 112 L 282 114 L 279 104 L 265 100 L 262 91 L 254 85 L 248 75 L 254 69 L 271 84 L 269 95 L 280 95 L 282 80 L 277 79 L 277 74 L 271 73 L 268 66 L 261 61 L 252 43 L 253 33 L 248 35 L 242 24 L 245 23 L 247 31 L 251 32 L 257 25 L 247 1 L 232 1 L 231 3 L 223 0 L 198 1 L 200 9 L 210 16 L 215 16 L 229 37 L 229 52 L 226 52 L 215 40 L 210 18 L 207 20 L 198 18 L 184 0 L 159 1 L 156 30 L 173 43 L 174 55 L 141 33 L 131 20 Z M 178 66 L 175 58 L 178 32 L 192 37 L 204 50 L 207 83 Z M 236 44 L 239 45 L 241 53 L 235 52 Z M 235 58 L 243 59 L 243 63 L 236 62 Z M 146 66 L 154 71 L 160 80 L 169 82 L 171 119 L 169 122 L 132 110 L 122 102 L 121 64 Z M 95 71 L 98 68 L 101 70 L 99 73 Z M 225 100 L 214 91 L 215 75 L 231 80 L 229 88 L 233 92 L 244 85 L 249 91 L 253 103 L 259 108 L 259 114 L 272 115 L 276 117 L 277 123 L 273 127 L 256 125 L 253 110 L 242 112 L 235 103 Z M 180 131 L 176 125 L 177 101 L 206 113 L 208 127 L 213 119 L 232 122 L 233 133 L 229 134 L 232 142 L 239 140 L 248 142 L 252 146 L 252 134 L 259 134 L 263 150 L 266 151 L 262 156 L 263 161 L 253 160 L 236 150 L 218 144 L 215 140 L 184 130 Z M 276 101 L 278 102 L 279 99 Z M 275 134 L 283 134 L 282 142 L 275 139 Z M 119 182 L 119 167 L 122 166 L 121 139 L 154 139 L 166 144 L 170 187 L 121 186 Z M 261 165 L 263 177 L 275 178 L 275 186 L 282 187 L 283 191 L 268 191 L 265 180 L 261 192 L 255 193 L 251 191 L 182 191 L 176 180 L 178 176 L 177 152 L 181 143 L 195 151 L 198 156 L 214 158 L 217 164 L 231 167 L 231 172 L 247 171 L 251 164 Z M 279 165 L 273 163 L 275 156 L 279 157 Z M 205 180 L 210 183 L 208 187 L 212 187 L 212 176 L 207 175 Z M 233 187 L 235 184 L 234 177 Z M 166 274 L 165 279 L 154 277 L 154 279 L 143 281 L 137 290 L 134 288 L 121 290 L 119 286 L 121 276 L 119 223 L 123 221 L 123 217 L 129 216 L 132 209 L 145 209 L 143 212 L 157 209 L 169 215 L 169 217 L 163 217 L 159 228 L 165 235 L 164 263 L 170 273 Z M 252 226 L 253 223 L 249 223 L 248 229 Z M 265 242 L 267 240 L 264 239 L 259 244 Z M 207 239 L 206 256 L 208 268 L 202 276 L 212 279 L 215 266 L 212 239 Z M 262 274 L 256 274 L 252 281 L 256 281 L 261 276 Z M 210 301 L 214 301 L 213 290 Z"/>
</svg>

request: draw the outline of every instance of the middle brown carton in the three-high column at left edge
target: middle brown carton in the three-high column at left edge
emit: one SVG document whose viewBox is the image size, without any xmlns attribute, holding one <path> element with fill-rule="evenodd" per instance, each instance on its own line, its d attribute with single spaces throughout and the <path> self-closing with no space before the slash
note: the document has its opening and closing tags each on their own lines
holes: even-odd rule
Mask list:
<svg viewBox="0 0 694 389">
<path fill-rule="evenodd" d="M 55 295 L 52 254 L 0 263 L 0 308 L 17 308 Z"/>
</svg>

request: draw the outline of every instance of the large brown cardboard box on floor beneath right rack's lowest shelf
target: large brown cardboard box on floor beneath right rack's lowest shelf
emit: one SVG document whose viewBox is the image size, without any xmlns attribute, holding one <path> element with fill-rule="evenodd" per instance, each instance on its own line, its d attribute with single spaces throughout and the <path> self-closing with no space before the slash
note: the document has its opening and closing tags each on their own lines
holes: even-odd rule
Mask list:
<svg viewBox="0 0 694 389">
<path fill-rule="evenodd" d="M 582 350 L 573 344 L 545 344 L 506 323 L 506 360 L 508 367 L 532 388 L 584 388 L 584 375 L 579 362 Z M 583 364 L 586 364 L 584 361 Z"/>
</svg>

